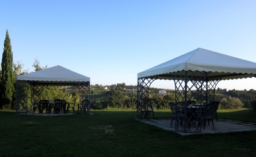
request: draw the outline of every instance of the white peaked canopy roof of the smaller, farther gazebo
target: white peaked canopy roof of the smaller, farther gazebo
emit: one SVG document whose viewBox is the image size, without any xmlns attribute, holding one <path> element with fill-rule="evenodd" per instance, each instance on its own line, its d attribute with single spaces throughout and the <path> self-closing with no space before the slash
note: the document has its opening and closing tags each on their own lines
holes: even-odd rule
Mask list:
<svg viewBox="0 0 256 157">
<path fill-rule="evenodd" d="M 18 75 L 17 80 L 34 82 L 34 85 L 47 84 L 73 86 L 76 83 L 90 82 L 90 77 L 86 77 L 58 65 L 41 71 Z"/>
</svg>

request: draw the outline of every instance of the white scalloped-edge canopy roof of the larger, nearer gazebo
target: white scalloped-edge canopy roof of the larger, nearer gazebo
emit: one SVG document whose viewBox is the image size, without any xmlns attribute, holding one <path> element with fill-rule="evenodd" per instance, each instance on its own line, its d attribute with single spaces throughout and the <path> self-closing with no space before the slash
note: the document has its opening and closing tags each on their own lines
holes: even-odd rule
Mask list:
<svg viewBox="0 0 256 157">
<path fill-rule="evenodd" d="M 184 71 L 211 72 L 208 78 L 212 80 L 242 79 L 255 76 L 256 63 L 198 48 L 140 72 L 137 77 L 172 80 L 173 73 L 183 72 L 185 75 Z M 193 75 L 191 73 L 188 72 L 188 75 Z"/>
</svg>

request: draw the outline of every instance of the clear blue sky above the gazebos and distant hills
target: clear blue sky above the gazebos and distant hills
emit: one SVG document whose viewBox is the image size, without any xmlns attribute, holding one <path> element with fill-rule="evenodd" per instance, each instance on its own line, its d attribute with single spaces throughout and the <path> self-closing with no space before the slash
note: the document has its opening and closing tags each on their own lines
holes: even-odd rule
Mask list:
<svg viewBox="0 0 256 157">
<path fill-rule="evenodd" d="M 137 73 L 198 47 L 256 62 L 256 1 L 0 1 L 13 61 L 60 65 L 91 84 L 137 85 Z M 2 40 L 1 40 L 2 39 Z M 219 88 L 256 89 L 256 79 Z M 152 87 L 174 89 L 172 81 Z"/>
</svg>

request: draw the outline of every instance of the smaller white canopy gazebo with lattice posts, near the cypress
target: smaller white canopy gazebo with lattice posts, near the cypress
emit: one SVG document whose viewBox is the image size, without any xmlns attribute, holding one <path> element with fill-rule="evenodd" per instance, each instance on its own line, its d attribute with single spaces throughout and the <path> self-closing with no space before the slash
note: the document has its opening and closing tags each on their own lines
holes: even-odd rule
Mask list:
<svg viewBox="0 0 256 157">
<path fill-rule="evenodd" d="M 80 101 L 90 100 L 90 77 L 58 65 L 41 71 L 18 75 L 16 79 L 16 113 L 20 113 L 21 108 L 27 107 L 28 102 L 30 102 L 29 98 L 33 99 L 34 96 L 41 95 L 41 91 L 46 86 L 76 86 L 79 89 Z M 28 96 L 29 90 L 31 90 L 31 96 Z"/>
</svg>

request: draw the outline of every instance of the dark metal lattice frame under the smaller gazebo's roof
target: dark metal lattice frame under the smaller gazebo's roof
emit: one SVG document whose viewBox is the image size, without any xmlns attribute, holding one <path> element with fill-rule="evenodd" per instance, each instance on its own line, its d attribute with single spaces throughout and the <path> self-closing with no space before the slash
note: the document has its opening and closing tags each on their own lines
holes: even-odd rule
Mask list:
<svg viewBox="0 0 256 157">
<path fill-rule="evenodd" d="M 57 86 L 57 84 L 37 84 L 35 81 L 23 81 L 23 80 L 17 80 L 16 81 L 16 103 L 15 103 L 15 109 L 16 114 L 23 113 L 31 110 L 31 100 L 34 99 L 34 97 L 40 97 L 41 100 L 41 93 L 44 88 L 47 86 Z M 58 84 L 62 85 L 62 84 Z M 79 102 L 81 102 L 84 99 L 90 100 L 90 82 L 74 82 L 73 86 L 76 86 L 77 89 L 79 89 Z M 27 109 L 27 110 L 24 110 Z M 89 101 L 89 109 L 88 114 L 90 114 L 90 101 Z"/>
</svg>

